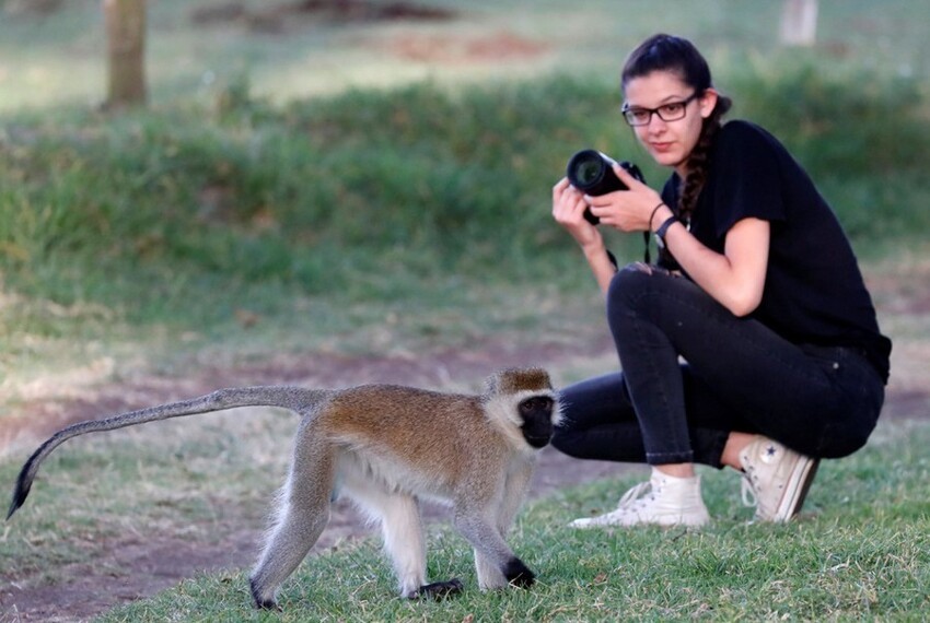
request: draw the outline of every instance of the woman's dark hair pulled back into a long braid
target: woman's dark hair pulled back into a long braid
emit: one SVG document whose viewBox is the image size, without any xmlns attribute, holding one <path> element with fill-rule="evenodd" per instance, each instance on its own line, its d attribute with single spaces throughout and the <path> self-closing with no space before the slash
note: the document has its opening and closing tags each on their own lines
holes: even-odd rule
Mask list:
<svg viewBox="0 0 930 623">
<path fill-rule="evenodd" d="M 694 44 L 682 37 L 659 34 L 640 44 L 624 64 L 620 86 L 626 89 L 630 80 L 642 78 L 653 71 L 676 73 L 685 84 L 694 87 L 697 94 L 702 94 L 713 86 L 707 60 Z M 729 97 L 718 96 L 717 105 L 710 116 L 704 120 L 698 142 L 688 156 L 688 172 L 678 188 L 678 218 L 686 223 L 690 221 L 698 195 L 707 180 L 710 149 L 720 130 L 721 117 L 732 104 Z"/>
</svg>

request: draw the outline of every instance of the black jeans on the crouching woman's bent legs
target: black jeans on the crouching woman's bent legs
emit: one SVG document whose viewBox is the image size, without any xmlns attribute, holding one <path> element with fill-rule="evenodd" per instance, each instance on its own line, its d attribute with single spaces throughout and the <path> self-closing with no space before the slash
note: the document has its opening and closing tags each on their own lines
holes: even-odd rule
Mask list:
<svg viewBox="0 0 930 623">
<path fill-rule="evenodd" d="M 561 391 L 553 444 L 578 458 L 721 467 L 731 432 L 842 457 L 865 444 L 884 402 L 855 349 L 791 343 L 682 277 L 620 270 L 607 320 L 623 373 Z"/>
</svg>

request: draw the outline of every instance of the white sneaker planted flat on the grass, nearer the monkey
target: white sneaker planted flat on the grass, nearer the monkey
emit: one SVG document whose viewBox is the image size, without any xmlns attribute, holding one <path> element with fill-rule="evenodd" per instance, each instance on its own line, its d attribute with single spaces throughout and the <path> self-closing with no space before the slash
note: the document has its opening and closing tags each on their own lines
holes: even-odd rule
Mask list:
<svg viewBox="0 0 930 623">
<path fill-rule="evenodd" d="M 700 477 L 676 478 L 652 468 L 652 477 L 627 491 L 616 510 L 576 519 L 572 528 L 611 526 L 704 526 L 710 515 L 700 496 Z"/>
</svg>

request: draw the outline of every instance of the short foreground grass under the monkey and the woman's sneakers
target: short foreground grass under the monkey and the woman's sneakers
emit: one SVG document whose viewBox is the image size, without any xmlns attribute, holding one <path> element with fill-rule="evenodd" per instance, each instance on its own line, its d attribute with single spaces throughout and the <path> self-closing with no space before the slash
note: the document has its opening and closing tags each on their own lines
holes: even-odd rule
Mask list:
<svg viewBox="0 0 930 623">
<path fill-rule="evenodd" d="M 270 448 L 294 423 L 228 414 L 195 425 L 189 442 L 177 442 L 172 423 L 152 426 L 163 427 L 159 435 L 72 442 L 44 467 L 4 536 L 2 574 L 54 574 L 58 564 L 93 560 L 101 541 L 118 533 L 210 541 L 211 522 L 231 513 L 259 527 L 284 467 Z M 821 467 L 804 514 L 782 526 L 746 522 L 752 512 L 732 472 L 704 471 L 714 522 L 700 532 L 572 531 L 571 518 L 609 508 L 633 477 L 567 489 L 527 505 L 509 539 L 539 573 L 530 591 L 476 590 L 469 548 L 439 524 L 429 528 L 429 573 L 461 577 L 467 590 L 460 599 L 396 598 L 371 538 L 305 561 L 282 590 L 280 615 L 252 611 L 246 571 L 232 569 L 101 621 L 919 620 L 930 606 L 928 443 L 926 422 L 882 423 L 867 448 Z M 246 455 L 255 469 L 243 468 Z M 11 467 L 0 467 L 4 481 Z"/>
</svg>

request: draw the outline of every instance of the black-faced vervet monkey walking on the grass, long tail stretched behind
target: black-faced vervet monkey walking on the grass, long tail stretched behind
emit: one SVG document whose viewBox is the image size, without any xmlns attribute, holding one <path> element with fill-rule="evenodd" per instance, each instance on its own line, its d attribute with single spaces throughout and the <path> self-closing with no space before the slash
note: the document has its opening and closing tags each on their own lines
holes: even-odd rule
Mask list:
<svg viewBox="0 0 930 623">
<path fill-rule="evenodd" d="M 463 588 L 457 579 L 427 584 L 420 498 L 453 506 L 454 526 L 475 550 L 483 589 L 533 584 L 533 572 L 503 537 L 525 497 L 536 452 L 561 416 L 540 368 L 499 372 L 480 396 L 393 385 L 246 387 L 82 422 L 30 457 L 7 519 L 25 502 L 42 461 L 71 437 L 235 407 L 280 407 L 302 416 L 275 522 L 249 577 L 256 607 L 277 608 L 278 588 L 316 543 L 339 494 L 381 521 L 404 597 Z"/>
</svg>

